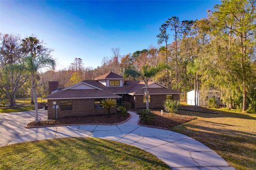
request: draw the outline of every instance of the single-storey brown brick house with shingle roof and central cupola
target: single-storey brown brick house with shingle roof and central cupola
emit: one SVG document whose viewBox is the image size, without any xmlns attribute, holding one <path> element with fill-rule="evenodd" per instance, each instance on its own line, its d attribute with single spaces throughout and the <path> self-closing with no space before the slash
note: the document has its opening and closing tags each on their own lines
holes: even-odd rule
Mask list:
<svg viewBox="0 0 256 170">
<path fill-rule="evenodd" d="M 85 80 L 73 86 L 58 89 L 58 82 L 49 82 L 48 118 L 107 114 L 101 101 L 113 98 L 117 103 L 129 101 L 133 108 L 146 108 L 145 83 L 125 81 L 114 72 L 103 74 L 94 80 Z M 181 92 L 169 89 L 157 82 L 149 82 L 149 107 L 163 108 L 166 99 L 180 100 Z M 55 108 L 55 106 L 57 108 Z M 111 114 L 116 108 L 110 109 Z"/>
</svg>

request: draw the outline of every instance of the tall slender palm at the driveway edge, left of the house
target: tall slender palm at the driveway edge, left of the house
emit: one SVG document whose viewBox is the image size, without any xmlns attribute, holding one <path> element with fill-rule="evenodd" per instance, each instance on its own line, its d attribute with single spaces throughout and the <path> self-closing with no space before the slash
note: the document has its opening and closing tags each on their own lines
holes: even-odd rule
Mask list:
<svg viewBox="0 0 256 170">
<path fill-rule="evenodd" d="M 34 98 L 35 98 L 35 122 L 38 123 L 38 105 L 36 94 L 36 73 L 44 67 L 52 67 L 54 69 L 56 63 L 49 55 L 42 55 L 38 57 L 28 56 L 25 58 L 27 71 L 31 75 L 31 83 L 33 84 Z"/>
</svg>

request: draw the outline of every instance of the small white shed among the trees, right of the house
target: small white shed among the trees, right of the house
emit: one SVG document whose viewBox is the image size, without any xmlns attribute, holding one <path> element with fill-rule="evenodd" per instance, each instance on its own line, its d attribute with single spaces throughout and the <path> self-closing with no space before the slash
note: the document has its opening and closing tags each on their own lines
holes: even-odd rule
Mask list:
<svg viewBox="0 0 256 170">
<path fill-rule="evenodd" d="M 197 96 L 197 95 L 196 95 Z M 217 104 L 220 103 L 220 92 L 217 90 L 199 90 L 198 97 L 196 97 L 197 106 L 209 106 L 208 100 L 214 97 Z M 195 106 L 195 90 L 187 92 L 187 104 Z"/>
</svg>

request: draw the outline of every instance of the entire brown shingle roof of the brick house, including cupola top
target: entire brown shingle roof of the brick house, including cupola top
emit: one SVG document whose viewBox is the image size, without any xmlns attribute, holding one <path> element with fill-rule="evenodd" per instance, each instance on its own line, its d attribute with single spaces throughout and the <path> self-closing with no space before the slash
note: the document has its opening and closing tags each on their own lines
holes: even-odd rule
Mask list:
<svg viewBox="0 0 256 170">
<path fill-rule="evenodd" d="M 122 76 L 109 72 L 101 75 L 95 80 L 85 80 L 83 82 L 91 84 L 99 89 L 62 89 L 47 97 L 45 99 L 71 99 L 71 98 L 117 98 L 115 94 L 130 94 L 130 95 L 143 95 L 145 83 L 143 81 L 124 81 L 123 87 L 106 87 L 98 80 L 101 79 L 123 79 Z M 149 82 L 148 85 L 155 82 Z M 101 90 L 102 89 L 102 90 Z M 153 94 L 180 94 L 181 92 L 168 89 L 168 88 L 149 88 L 149 95 Z"/>
</svg>

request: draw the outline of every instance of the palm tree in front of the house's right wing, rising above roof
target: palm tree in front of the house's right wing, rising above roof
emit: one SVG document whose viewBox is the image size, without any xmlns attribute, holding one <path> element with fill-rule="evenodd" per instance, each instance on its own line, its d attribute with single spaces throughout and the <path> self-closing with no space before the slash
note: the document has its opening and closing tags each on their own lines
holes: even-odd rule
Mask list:
<svg viewBox="0 0 256 170">
<path fill-rule="evenodd" d="M 155 77 L 159 72 L 164 69 L 169 69 L 164 63 L 159 63 L 157 66 L 144 65 L 140 71 L 129 68 L 124 71 L 124 77 L 141 78 L 145 82 L 144 92 L 146 95 L 146 108 L 149 109 L 148 102 L 148 82 L 151 78 Z"/>
</svg>

